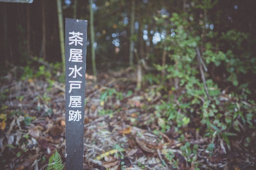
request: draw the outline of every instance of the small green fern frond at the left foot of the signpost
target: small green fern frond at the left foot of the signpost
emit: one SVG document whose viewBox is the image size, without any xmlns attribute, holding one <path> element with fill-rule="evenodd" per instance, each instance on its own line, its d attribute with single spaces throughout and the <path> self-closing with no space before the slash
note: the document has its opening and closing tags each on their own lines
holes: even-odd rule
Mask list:
<svg viewBox="0 0 256 170">
<path fill-rule="evenodd" d="M 57 152 L 57 149 L 55 149 L 55 153 L 49 158 L 47 170 L 62 170 L 63 168 L 64 165 L 62 163 L 61 156 Z"/>
</svg>

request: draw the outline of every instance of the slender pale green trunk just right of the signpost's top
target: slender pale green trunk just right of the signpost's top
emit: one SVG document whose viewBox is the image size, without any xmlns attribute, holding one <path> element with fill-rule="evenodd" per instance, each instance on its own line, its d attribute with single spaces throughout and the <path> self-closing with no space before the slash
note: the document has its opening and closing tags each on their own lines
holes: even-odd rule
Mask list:
<svg viewBox="0 0 256 170">
<path fill-rule="evenodd" d="M 92 64 L 93 64 L 93 77 L 97 81 L 97 71 L 95 63 L 95 50 L 94 50 L 94 26 L 93 26 L 93 0 L 90 0 L 90 31 L 91 31 L 91 46 L 92 46 Z"/>
</svg>

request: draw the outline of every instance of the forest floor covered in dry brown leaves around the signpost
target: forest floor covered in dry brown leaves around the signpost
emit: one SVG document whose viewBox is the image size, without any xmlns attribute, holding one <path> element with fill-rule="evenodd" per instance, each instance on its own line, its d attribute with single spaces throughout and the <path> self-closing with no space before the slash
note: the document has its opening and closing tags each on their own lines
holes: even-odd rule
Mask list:
<svg viewBox="0 0 256 170">
<path fill-rule="evenodd" d="M 178 131 L 175 124 L 161 131 L 155 106 L 166 92 L 158 85 L 137 90 L 134 73 L 126 71 L 101 72 L 97 82 L 86 76 L 85 170 L 256 169 L 256 151 L 243 149 L 242 137 L 229 147 L 219 139 L 209 154 L 216 140 L 198 133 L 197 118 Z M 64 83 L 20 80 L 13 73 L 1 77 L 0 169 L 45 170 L 55 149 L 65 164 L 64 96 Z M 255 140 L 256 133 L 251 136 Z"/>
</svg>

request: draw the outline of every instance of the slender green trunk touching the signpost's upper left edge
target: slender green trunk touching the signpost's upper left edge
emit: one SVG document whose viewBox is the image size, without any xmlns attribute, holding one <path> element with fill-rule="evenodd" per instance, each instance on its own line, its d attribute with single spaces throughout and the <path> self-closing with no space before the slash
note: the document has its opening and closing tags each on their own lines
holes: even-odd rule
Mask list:
<svg viewBox="0 0 256 170">
<path fill-rule="evenodd" d="M 62 17 L 62 2 L 57 0 L 59 32 L 60 32 L 60 44 L 62 54 L 62 71 L 65 73 L 65 44 L 64 44 L 64 31 L 63 31 L 63 17 Z"/>
</svg>

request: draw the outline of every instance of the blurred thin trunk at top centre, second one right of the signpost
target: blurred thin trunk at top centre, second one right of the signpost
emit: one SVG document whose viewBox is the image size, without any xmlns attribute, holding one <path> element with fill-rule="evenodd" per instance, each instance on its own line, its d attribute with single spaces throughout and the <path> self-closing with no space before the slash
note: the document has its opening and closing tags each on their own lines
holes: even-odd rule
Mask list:
<svg viewBox="0 0 256 170">
<path fill-rule="evenodd" d="M 134 22 L 135 22 L 135 0 L 132 0 L 132 13 L 131 13 L 131 36 L 130 36 L 130 53 L 129 53 L 129 63 L 133 65 L 133 51 L 134 51 Z"/>
</svg>

